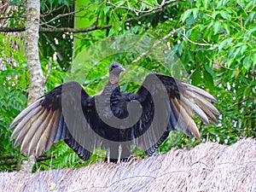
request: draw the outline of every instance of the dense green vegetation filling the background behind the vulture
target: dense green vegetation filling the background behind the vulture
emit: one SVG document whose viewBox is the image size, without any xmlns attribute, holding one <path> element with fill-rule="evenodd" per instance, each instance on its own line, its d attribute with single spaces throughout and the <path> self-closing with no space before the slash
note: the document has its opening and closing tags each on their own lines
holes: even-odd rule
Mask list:
<svg viewBox="0 0 256 192">
<path fill-rule="evenodd" d="M 255 137 L 255 0 L 76 3 L 41 2 L 40 59 L 44 74 L 50 72 L 46 91 L 76 79 L 88 93 L 96 94 L 108 80 L 109 63 L 119 61 L 128 69 L 121 80 L 124 91 L 136 91 L 147 73 L 157 72 L 190 81 L 216 96 L 222 113 L 219 124 L 197 121 L 202 141 L 231 144 L 242 137 Z M 10 28 L 21 31 L 26 20 L 22 4 L 12 1 L 9 6 L 19 7 L 1 15 L 9 18 Z M 22 32 L 16 38 L 12 33 L 0 34 L 2 171 L 14 170 L 26 158 L 19 148 L 13 148 L 14 142 L 9 142 L 9 124 L 26 107 L 29 79 L 23 44 Z M 172 132 L 160 152 L 191 148 L 197 143 L 201 141 Z M 38 158 L 34 168 L 75 167 L 96 160 L 102 159 L 93 155 L 83 162 L 66 144 L 57 143 Z"/>
</svg>

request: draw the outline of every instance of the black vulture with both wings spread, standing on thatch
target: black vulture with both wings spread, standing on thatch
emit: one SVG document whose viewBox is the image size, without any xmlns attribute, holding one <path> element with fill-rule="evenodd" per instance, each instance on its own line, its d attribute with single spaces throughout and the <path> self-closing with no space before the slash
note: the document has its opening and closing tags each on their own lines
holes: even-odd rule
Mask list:
<svg viewBox="0 0 256 192">
<path fill-rule="evenodd" d="M 11 123 L 11 139 L 21 153 L 40 155 L 64 140 L 83 160 L 95 148 L 107 149 L 108 161 L 131 156 L 131 145 L 152 155 L 169 135 L 182 130 L 200 138 L 193 113 L 209 124 L 218 120 L 218 102 L 206 91 L 170 76 L 150 73 L 136 93 L 122 93 L 119 74 L 125 69 L 114 62 L 102 93 L 89 96 L 76 81 L 50 90 L 25 108 Z"/>
</svg>

